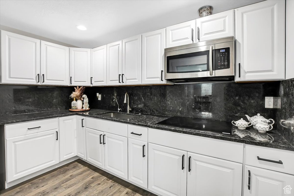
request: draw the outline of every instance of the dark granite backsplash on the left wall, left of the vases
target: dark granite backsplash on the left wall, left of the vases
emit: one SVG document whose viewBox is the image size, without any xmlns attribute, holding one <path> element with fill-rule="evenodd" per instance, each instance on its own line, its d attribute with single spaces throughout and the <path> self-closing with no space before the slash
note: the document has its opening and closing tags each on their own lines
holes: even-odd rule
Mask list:
<svg viewBox="0 0 294 196">
<path fill-rule="evenodd" d="M 68 109 L 73 87 L 0 85 L 0 115 Z"/>
</svg>

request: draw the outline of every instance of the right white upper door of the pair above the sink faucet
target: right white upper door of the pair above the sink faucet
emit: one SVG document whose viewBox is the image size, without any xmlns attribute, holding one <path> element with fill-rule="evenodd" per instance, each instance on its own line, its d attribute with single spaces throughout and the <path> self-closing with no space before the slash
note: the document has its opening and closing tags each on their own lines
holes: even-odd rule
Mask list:
<svg viewBox="0 0 294 196">
<path fill-rule="evenodd" d="M 141 84 L 142 35 L 123 39 L 122 84 Z"/>
</svg>

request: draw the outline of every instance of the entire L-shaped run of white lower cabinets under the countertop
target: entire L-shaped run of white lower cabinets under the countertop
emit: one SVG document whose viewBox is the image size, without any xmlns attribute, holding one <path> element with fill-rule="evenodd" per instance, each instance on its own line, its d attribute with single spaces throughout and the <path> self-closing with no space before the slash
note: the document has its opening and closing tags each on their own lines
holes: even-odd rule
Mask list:
<svg viewBox="0 0 294 196">
<path fill-rule="evenodd" d="M 1 131 L 3 188 L 80 158 L 156 195 L 294 195 L 293 151 L 79 115 Z"/>
</svg>

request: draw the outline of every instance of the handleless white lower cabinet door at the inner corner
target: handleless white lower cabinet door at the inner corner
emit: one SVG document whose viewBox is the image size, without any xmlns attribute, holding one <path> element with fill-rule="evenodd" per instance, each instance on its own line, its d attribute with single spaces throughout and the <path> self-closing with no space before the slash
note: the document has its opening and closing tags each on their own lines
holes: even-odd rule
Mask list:
<svg viewBox="0 0 294 196">
<path fill-rule="evenodd" d="M 60 161 L 76 156 L 76 116 L 59 118 Z"/>
</svg>

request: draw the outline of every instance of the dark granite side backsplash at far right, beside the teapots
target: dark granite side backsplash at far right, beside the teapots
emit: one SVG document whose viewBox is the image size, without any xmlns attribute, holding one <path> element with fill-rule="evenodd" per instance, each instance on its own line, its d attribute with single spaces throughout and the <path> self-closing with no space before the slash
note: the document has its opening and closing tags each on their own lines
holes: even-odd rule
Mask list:
<svg viewBox="0 0 294 196">
<path fill-rule="evenodd" d="M 281 81 L 279 96 L 281 97 L 281 108 L 277 110 L 277 129 L 294 146 L 293 128 L 283 127 L 280 124 L 280 120 L 287 120 L 294 116 L 294 79 Z"/>
</svg>

